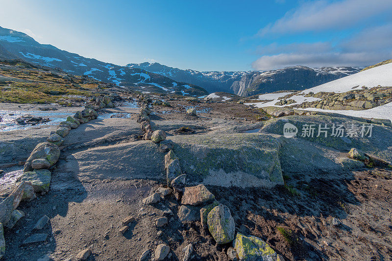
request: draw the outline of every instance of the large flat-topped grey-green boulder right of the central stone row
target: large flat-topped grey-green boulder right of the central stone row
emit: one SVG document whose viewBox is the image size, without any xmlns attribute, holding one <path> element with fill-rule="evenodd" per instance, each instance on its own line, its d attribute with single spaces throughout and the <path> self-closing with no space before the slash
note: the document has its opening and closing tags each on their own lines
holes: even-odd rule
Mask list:
<svg viewBox="0 0 392 261">
<path fill-rule="evenodd" d="M 175 135 L 173 151 L 191 182 L 222 187 L 284 184 L 279 162 L 282 142 L 254 133 Z"/>
</svg>

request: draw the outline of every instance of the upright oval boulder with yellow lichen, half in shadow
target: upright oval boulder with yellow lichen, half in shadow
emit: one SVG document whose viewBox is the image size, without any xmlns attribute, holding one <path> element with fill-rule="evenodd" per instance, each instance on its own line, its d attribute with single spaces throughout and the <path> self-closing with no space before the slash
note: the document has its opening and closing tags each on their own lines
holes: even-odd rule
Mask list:
<svg viewBox="0 0 392 261">
<path fill-rule="evenodd" d="M 226 244 L 234 240 L 235 223 L 230 210 L 225 205 L 213 208 L 207 218 L 208 230 L 218 244 Z"/>
</svg>

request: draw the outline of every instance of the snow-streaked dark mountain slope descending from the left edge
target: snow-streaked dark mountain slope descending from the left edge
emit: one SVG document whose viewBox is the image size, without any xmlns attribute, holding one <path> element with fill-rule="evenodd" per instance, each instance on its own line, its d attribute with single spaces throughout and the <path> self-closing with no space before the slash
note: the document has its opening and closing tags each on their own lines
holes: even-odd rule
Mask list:
<svg viewBox="0 0 392 261">
<path fill-rule="evenodd" d="M 20 58 L 37 65 L 61 68 L 70 74 L 87 75 L 99 81 L 142 92 L 193 96 L 207 94 L 204 89 L 193 84 L 175 81 L 138 68 L 122 67 L 85 58 L 51 45 L 42 45 L 25 33 L 2 27 L 0 27 L 0 58 Z"/>
</svg>

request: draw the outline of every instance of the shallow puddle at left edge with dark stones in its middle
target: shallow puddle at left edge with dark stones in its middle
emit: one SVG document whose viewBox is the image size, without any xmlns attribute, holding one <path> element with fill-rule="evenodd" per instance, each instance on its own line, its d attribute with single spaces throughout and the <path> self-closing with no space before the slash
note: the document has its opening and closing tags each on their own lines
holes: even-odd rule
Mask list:
<svg viewBox="0 0 392 261">
<path fill-rule="evenodd" d="M 28 128 L 37 128 L 37 126 L 50 126 L 58 122 L 64 121 L 68 116 L 73 116 L 75 112 L 48 112 L 48 111 L 9 111 L 0 110 L 0 131 L 11 131 L 11 130 L 25 130 Z M 49 118 L 48 122 L 38 123 L 35 125 L 31 124 L 18 124 L 16 119 L 19 117 L 31 115 L 42 118 Z"/>
</svg>

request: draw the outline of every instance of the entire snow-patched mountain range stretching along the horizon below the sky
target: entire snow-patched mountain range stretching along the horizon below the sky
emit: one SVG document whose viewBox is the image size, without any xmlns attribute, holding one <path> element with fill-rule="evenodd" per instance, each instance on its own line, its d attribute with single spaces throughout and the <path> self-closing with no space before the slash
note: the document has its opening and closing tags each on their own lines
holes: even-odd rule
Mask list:
<svg viewBox="0 0 392 261">
<path fill-rule="evenodd" d="M 312 69 L 295 66 L 273 71 L 195 71 L 147 62 L 119 66 L 43 45 L 25 33 L 2 27 L 0 59 L 22 59 L 145 93 L 192 96 L 214 92 L 251 96 L 282 90 L 304 90 L 361 70 L 353 67 Z"/>
</svg>

